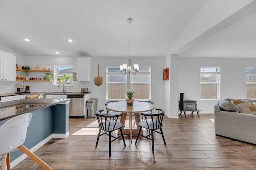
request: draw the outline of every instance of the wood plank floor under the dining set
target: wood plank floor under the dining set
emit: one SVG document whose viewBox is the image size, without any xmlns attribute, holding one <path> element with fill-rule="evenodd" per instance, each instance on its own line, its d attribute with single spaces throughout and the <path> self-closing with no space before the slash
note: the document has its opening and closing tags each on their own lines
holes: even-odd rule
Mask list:
<svg viewBox="0 0 256 170">
<path fill-rule="evenodd" d="M 256 170 L 256 145 L 218 137 L 214 134 L 214 114 L 179 115 L 179 119 L 164 117 L 164 137 L 155 137 L 155 154 L 151 141 L 140 138 L 134 145 L 125 135 L 112 142 L 108 157 L 108 136 L 100 137 L 96 118 L 69 119 L 70 135 L 55 138 L 34 152 L 54 170 L 86 169 L 172 169 L 172 170 Z M 144 132 L 145 133 L 145 132 Z M 12 170 L 42 169 L 26 158 Z"/>
</svg>

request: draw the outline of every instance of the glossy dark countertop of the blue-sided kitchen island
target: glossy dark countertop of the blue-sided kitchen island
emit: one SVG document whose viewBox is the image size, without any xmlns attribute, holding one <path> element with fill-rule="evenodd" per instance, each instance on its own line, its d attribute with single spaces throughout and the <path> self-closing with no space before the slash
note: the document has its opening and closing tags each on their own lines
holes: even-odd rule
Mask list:
<svg viewBox="0 0 256 170">
<path fill-rule="evenodd" d="M 9 119 L 24 113 L 28 113 L 44 107 L 53 106 L 62 102 L 67 102 L 70 99 L 23 99 L 10 102 L 0 102 L 0 111 L 3 110 L 3 114 L 0 114 L 0 121 Z M 14 113 L 15 107 L 15 113 Z M 4 114 L 5 109 L 9 112 Z M 14 114 L 13 114 L 14 113 Z"/>
</svg>

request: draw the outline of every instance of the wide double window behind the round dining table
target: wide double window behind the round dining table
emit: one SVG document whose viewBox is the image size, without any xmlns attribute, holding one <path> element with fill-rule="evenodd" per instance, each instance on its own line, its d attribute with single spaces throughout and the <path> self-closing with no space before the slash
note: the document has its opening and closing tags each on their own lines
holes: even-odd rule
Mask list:
<svg viewBox="0 0 256 170">
<path fill-rule="evenodd" d="M 136 100 L 149 100 L 151 84 L 151 68 L 140 67 L 136 75 L 122 75 L 119 67 L 107 67 L 107 99 L 124 100 L 126 91 L 133 90 Z M 134 72 L 134 68 L 132 68 Z"/>
</svg>

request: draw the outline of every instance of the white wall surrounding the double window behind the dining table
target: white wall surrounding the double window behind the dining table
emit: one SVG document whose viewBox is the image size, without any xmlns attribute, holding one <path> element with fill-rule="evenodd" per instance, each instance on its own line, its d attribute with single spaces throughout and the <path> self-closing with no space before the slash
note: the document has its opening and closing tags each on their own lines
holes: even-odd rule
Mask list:
<svg viewBox="0 0 256 170">
<path fill-rule="evenodd" d="M 151 99 L 156 108 L 164 108 L 164 81 L 163 66 L 164 57 L 134 57 L 132 63 L 140 66 L 151 66 Z M 92 58 L 92 98 L 98 98 L 98 109 L 106 110 L 106 66 L 119 66 L 128 63 L 126 57 L 94 57 Z M 94 77 L 98 76 L 98 64 L 100 64 L 100 77 L 103 78 L 102 85 L 94 84 Z"/>
</svg>

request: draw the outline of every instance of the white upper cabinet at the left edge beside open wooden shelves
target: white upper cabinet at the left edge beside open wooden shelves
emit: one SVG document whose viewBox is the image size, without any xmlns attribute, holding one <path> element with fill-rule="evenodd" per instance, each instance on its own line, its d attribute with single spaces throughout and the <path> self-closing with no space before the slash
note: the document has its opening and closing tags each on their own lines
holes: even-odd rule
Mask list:
<svg viewBox="0 0 256 170">
<path fill-rule="evenodd" d="M 15 81 L 15 63 L 14 54 L 0 51 L 0 81 Z"/>
</svg>

